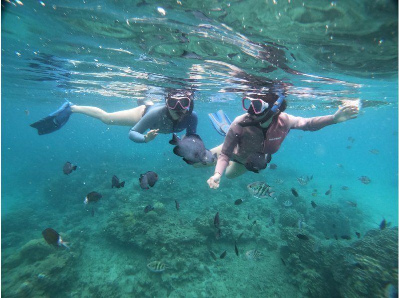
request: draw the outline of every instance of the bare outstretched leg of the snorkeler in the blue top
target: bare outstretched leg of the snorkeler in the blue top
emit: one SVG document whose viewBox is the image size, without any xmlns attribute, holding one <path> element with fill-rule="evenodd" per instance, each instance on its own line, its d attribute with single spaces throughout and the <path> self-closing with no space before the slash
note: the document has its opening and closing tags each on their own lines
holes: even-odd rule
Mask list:
<svg viewBox="0 0 399 298">
<path fill-rule="evenodd" d="M 130 110 L 107 113 L 97 107 L 71 106 L 73 113 L 80 113 L 99 119 L 105 124 L 130 127 L 135 126 L 140 121 L 145 108 L 146 106 L 143 105 Z"/>
</svg>

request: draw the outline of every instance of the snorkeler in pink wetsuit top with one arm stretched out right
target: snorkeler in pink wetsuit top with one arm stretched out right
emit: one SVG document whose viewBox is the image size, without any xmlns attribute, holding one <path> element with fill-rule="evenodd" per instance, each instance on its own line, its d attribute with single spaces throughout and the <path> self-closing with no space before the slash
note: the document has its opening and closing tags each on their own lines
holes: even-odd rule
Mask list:
<svg viewBox="0 0 399 298">
<path fill-rule="evenodd" d="M 277 152 L 291 129 L 317 131 L 328 125 L 354 119 L 359 113 L 357 104 L 347 103 L 339 106 L 334 115 L 295 117 L 283 113 L 287 106 L 283 98 L 274 93 L 243 97 L 242 106 L 247 113 L 234 119 L 223 144 L 213 149 L 219 155 L 214 174 L 207 180 L 210 188 L 219 187 L 224 170 L 228 178 L 245 173 L 248 168 L 245 164 L 251 154 Z"/>
</svg>

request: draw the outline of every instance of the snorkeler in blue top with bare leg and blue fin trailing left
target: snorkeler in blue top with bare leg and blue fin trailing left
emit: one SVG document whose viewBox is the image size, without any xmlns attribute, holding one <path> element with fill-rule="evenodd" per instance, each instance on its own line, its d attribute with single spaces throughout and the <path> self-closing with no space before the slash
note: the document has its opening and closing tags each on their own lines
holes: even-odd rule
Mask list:
<svg viewBox="0 0 399 298">
<path fill-rule="evenodd" d="M 129 138 L 136 143 L 148 143 L 160 134 L 178 133 L 186 129 L 186 135 L 197 132 L 198 117 L 194 112 L 193 94 L 174 90 L 167 94 L 165 103 L 141 105 L 136 108 L 107 113 L 97 107 L 77 106 L 69 102 L 46 118 L 31 124 L 39 135 L 60 129 L 72 113 L 84 114 L 105 124 L 132 127 Z M 149 130 L 146 134 L 144 134 Z"/>
</svg>

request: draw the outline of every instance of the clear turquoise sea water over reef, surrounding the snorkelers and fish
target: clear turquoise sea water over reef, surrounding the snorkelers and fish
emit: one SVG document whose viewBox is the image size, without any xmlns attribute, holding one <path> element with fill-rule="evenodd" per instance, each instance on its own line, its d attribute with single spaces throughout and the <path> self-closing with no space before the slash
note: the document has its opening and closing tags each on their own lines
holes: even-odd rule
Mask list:
<svg viewBox="0 0 399 298">
<path fill-rule="evenodd" d="M 2 4 L 4 297 L 382 297 L 398 284 L 397 3 Z M 356 100 L 360 115 L 317 132 L 292 130 L 273 154 L 276 169 L 222 177 L 218 190 L 206 184 L 213 167 L 182 161 L 171 135 L 135 144 L 128 127 L 83 115 L 49 135 L 29 127 L 64 99 L 114 112 L 136 107 L 137 99 L 163 101 L 166 88 L 191 88 L 198 134 L 210 149 L 223 138 L 207 113 L 223 109 L 233 119 L 243 113 L 242 92 L 275 80 L 287 85 L 289 114 L 329 115 Z M 65 161 L 77 170 L 64 175 Z M 139 175 L 149 170 L 160 179 L 142 190 Z M 124 188 L 111 189 L 113 175 Z M 304 175 L 313 179 L 300 185 L 296 177 Z M 273 185 L 278 200 L 234 205 L 254 181 Z M 85 207 L 90 191 L 103 198 Z M 286 199 L 291 207 L 282 205 Z M 154 211 L 145 214 L 147 205 Z M 381 230 L 383 218 L 392 224 Z M 70 250 L 49 246 L 41 235 L 47 227 Z M 265 257 L 247 260 L 251 249 Z M 208 250 L 227 255 L 214 261 Z M 170 268 L 151 272 L 152 261 Z"/>
</svg>

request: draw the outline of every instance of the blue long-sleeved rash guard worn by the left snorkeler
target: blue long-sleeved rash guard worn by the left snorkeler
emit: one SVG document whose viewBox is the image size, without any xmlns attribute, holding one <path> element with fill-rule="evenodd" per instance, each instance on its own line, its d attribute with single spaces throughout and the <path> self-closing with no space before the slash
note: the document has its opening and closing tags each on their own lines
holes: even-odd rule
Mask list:
<svg viewBox="0 0 399 298">
<path fill-rule="evenodd" d="M 179 133 L 186 129 L 186 135 L 197 133 L 198 116 L 196 112 L 174 121 L 166 104 L 155 104 L 147 108 L 143 118 L 130 129 L 129 139 L 135 143 L 146 143 L 144 132 L 159 129 L 160 134 Z"/>
</svg>

